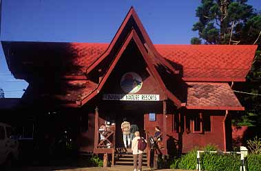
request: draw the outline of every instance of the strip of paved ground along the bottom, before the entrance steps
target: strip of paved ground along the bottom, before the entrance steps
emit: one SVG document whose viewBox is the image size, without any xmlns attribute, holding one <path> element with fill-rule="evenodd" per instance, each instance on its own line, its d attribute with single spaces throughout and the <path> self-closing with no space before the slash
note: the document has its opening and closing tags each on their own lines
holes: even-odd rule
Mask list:
<svg viewBox="0 0 261 171">
<path fill-rule="evenodd" d="M 132 171 L 133 166 L 114 166 L 109 168 L 70 168 L 70 167 L 28 167 L 28 168 L 17 168 L 14 171 Z M 143 171 L 153 170 L 149 167 L 143 167 Z M 170 169 L 165 169 L 161 171 L 170 171 Z M 174 170 L 171 170 L 174 171 Z M 176 170 L 183 171 L 183 170 Z"/>
</svg>

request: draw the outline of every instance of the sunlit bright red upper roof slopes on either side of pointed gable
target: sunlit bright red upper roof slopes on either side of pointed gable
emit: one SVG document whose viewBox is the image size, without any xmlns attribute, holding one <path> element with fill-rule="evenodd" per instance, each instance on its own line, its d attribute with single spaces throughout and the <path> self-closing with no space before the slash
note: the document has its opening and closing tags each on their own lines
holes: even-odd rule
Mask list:
<svg viewBox="0 0 261 171">
<path fill-rule="evenodd" d="M 83 54 L 77 58 L 79 66 L 89 67 L 107 46 L 105 43 L 72 43 L 72 50 Z M 251 45 L 154 46 L 174 68 L 182 70 L 185 81 L 244 81 L 257 48 Z"/>
</svg>

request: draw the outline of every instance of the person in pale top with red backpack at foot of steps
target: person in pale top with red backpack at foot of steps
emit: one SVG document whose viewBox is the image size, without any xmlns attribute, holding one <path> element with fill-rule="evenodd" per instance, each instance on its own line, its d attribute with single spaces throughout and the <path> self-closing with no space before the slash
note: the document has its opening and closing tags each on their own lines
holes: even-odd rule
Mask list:
<svg viewBox="0 0 261 171">
<path fill-rule="evenodd" d="M 140 132 L 136 131 L 134 133 L 134 135 L 135 135 L 135 138 L 132 140 L 132 154 L 133 154 L 133 161 L 134 161 L 134 171 L 137 170 L 137 159 L 138 159 L 138 171 L 140 171 L 143 166 L 143 151 L 138 150 L 138 139 L 140 139 Z"/>
</svg>

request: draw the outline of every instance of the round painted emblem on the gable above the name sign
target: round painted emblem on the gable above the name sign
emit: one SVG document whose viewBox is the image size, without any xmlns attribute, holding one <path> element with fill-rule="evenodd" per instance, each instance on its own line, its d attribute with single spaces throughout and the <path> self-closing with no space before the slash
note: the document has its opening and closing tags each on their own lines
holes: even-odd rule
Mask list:
<svg viewBox="0 0 261 171">
<path fill-rule="evenodd" d="M 121 89 L 129 94 L 134 94 L 143 86 L 143 80 L 136 72 L 127 72 L 121 77 Z"/>
</svg>

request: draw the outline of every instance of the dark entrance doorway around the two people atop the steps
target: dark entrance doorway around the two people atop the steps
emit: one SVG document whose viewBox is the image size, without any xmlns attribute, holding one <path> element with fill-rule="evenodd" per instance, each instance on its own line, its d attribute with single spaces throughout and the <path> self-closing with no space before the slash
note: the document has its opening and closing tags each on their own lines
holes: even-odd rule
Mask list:
<svg viewBox="0 0 261 171">
<path fill-rule="evenodd" d="M 145 137 L 144 132 L 144 116 L 143 112 L 138 112 L 136 110 L 123 110 L 121 113 L 116 114 L 116 148 L 123 148 L 123 133 L 121 131 L 121 123 L 123 123 L 123 118 L 126 117 L 127 121 L 132 125 L 138 125 L 138 130 L 140 131 L 140 135 Z"/>
</svg>

